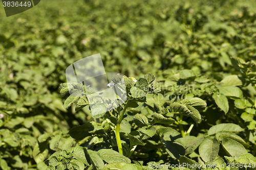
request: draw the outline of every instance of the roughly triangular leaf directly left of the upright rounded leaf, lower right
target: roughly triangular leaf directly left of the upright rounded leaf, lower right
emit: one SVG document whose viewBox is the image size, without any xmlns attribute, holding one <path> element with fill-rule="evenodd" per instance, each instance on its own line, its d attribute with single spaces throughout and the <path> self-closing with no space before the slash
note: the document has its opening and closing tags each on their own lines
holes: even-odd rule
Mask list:
<svg viewBox="0 0 256 170">
<path fill-rule="evenodd" d="M 201 144 L 204 139 L 203 136 L 195 137 L 195 136 L 184 136 L 183 140 L 185 142 L 185 154 L 193 153 L 197 147 Z"/>
</svg>

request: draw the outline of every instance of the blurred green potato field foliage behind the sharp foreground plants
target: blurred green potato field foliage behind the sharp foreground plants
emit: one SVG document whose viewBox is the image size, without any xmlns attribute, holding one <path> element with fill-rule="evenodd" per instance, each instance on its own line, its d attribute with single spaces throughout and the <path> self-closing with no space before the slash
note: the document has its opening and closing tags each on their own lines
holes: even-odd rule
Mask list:
<svg viewBox="0 0 256 170">
<path fill-rule="evenodd" d="M 161 80 L 191 69 L 221 81 L 237 74 L 230 57 L 256 57 L 256 2 L 249 0 L 41 1 L 10 17 L 0 8 L 3 169 L 42 169 L 48 154 L 74 144 L 65 133 L 90 112 L 63 109 L 59 84 L 79 59 L 100 53 L 106 72 L 127 77 L 150 72 Z M 40 153 L 38 136 L 53 132 L 63 133 L 62 143 Z"/>
</svg>

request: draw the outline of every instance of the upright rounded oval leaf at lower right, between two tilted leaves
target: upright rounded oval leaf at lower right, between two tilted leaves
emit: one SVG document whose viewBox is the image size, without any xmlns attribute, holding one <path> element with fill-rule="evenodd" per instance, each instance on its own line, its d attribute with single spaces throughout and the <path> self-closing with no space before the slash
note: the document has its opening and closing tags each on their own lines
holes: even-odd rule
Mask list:
<svg viewBox="0 0 256 170">
<path fill-rule="evenodd" d="M 214 161 L 219 153 L 219 142 L 216 138 L 207 136 L 199 146 L 199 154 L 205 162 Z"/>
</svg>

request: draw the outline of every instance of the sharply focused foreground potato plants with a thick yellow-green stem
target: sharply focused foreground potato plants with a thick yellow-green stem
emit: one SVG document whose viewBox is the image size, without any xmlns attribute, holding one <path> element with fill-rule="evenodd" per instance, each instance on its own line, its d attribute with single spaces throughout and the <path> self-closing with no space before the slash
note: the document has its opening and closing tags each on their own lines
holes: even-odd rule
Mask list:
<svg viewBox="0 0 256 170">
<path fill-rule="evenodd" d="M 244 73 L 243 71 L 251 72 L 256 66 L 253 61 L 245 63 L 239 58 L 232 58 L 232 63 L 241 68 L 242 73 Z M 66 169 L 69 166 L 75 166 L 78 169 L 108 169 L 111 167 L 123 169 L 126 166 L 136 166 L 138 169 L 144 169 L 152 164 L 160 165 L 165 161 L 170 161 L 173 164 L 185 163 L 186 166 L 180 167 L 183 169 L 191 169 L 188 164 L 194 164 L 194 167 L 200 165 L 202 168 L 214 164 L 218 165 L 218 169 L 222 168 L 222 165 L 223 169 L 232 169 L 232 164 L 239 166 L 240 169 L 254 166 L 255 158 L 246 150 L 251 147 L 248 142 L 252 139 L 247 136 L 248 138 L 244 140 L 238 135 L 239 132 L 245 132 L 246 135 L 249 133 L 253 136 L 249 128 L 254 120 L 250 119 L 249 115 L 255 114 L 255 110 L 252 108 L 253 104 L 243 99 L 243 92 L 237 87 L 240 85 L 237 84 L 239 82 L 242 85 L 242 78 L 228 76 L 220 83 L 213 84 L 204 77 L 196 78 L 191 70 L 181 70 L 178 74 L 170 75 L 169 80 L 172 81 L 165 81 L 164 84 L 173 88 L 170 84 L 179 84 L 176 81 L 194 81 L 196 85 L 200 85 L 201 90 L 187 91 L 175 86 L 177 95 L 172 98 L 172 95 L 166 94 L 173 89 L 167 88 L 164 92 L 161 91 L 161 85 L 152 74 L 146 74 L 136 83 L 133 78 L 116 76 L 112 78 L 112 83 L 117 83 L 120 77 L 123 77 L 125 81 L 127 101 L 118 108 L 106 112 L 103 117 L 97 114 L 92 115 L 95 121 L 71 129 L 69 135 L 81 145 L 71 150 L 54 153 L 46 161 L 49 169 Z M 244 82 L 252 82 L 253 78 L 254 76 L 247 77 L 248 80 L 244 78 Z M 61 95 L 69 93 L 68 86 L 67 83 L 60 85 Z M 72 84 L 73 92 L 79 91 L 79 88 L 75 88 L 77 86 L 81 85 L 79 83 Z M 85 88 L 86 91 L 89 90 L 88 87 Z M 204 95 L 205 93 L 208 95 Z M 180 96 L 182 97 L 183 94 L 186 94 L 186 97 L 181 99 Z M 237 124 L 223 123 L 212 125 L 206 133 L 197 133 L 197 136 L 190 135 L 195 125 L 200 128 L 200 123 L 202 123 L 200 112 L 206 112 L 211 107 L 215 107 L 208 106 L 206 108 L 206 102 L 195 95 L 206 96 L 207 101 L 214 101 L 215 105 L 224 113 L 229 110 L 228 98 L 233 100 L 234 107 L 247 108 L 249 113 L 243 112 L 241 118 L 236 114 L 233 116 L 239 123 L 242 123 L 242 120 L 251 121 L 247 126 L 248 129 L 243 129 L 245 128 L 244 123 L 241 124 L 243 128 Z M 76 110 L 89 105 L 86 96 L 77 97 L 71 94 L 64 106 L 68 108 L 73 103 L 76 103 Z M 157 147 L 153 149 L 153 146 Z M 76 155 L 74 156 L 75 149 L 81 150 L 83 153 L 82 160 Z M 65 154 L 61 155 L 61 152 Z M 68 158 L 66 158 L 66 154 Z M 227 163 L 220 155 L 223 155 Z M 163 162 L 147 161 L 157 157 Z M 195 157 L 197 157 L 197 162 L 191 159 Z M 127 165 L 131 161 L 135 165 Z M 143 161 L 147 161 L 148 166 L 143 166 Z M 173 169 L 178 168 L 174 167 Z"/>
</svg>

